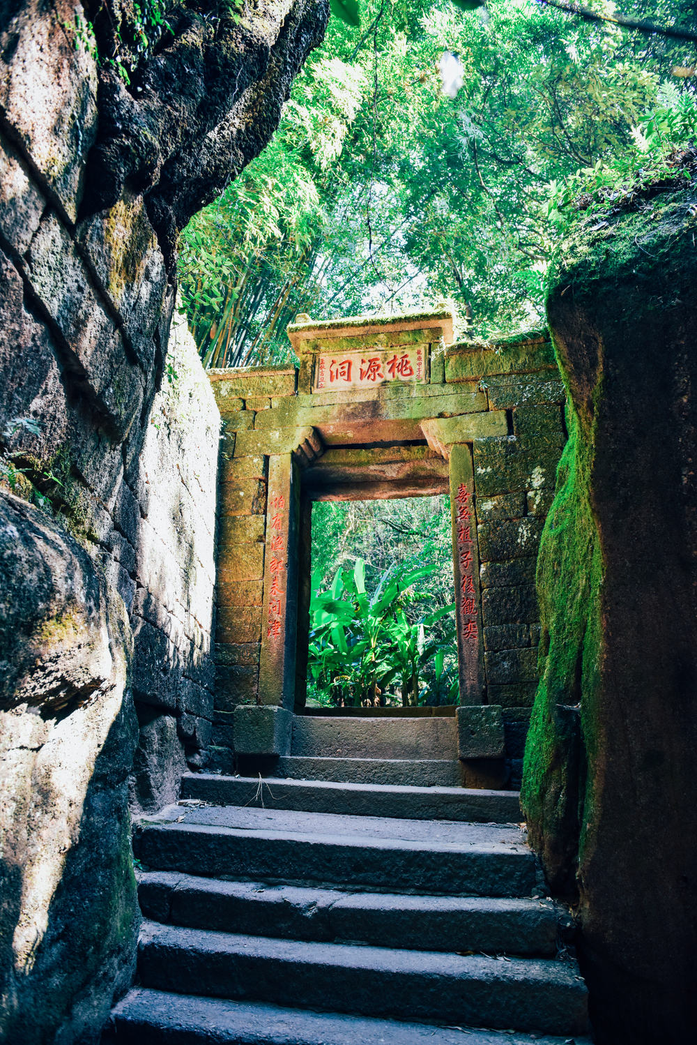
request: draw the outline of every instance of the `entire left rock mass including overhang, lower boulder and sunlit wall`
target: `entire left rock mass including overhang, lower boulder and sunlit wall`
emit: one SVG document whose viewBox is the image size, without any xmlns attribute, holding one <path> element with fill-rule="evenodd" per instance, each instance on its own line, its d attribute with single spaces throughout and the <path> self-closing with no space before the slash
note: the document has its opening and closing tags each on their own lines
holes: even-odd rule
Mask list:
<svg viewBox="0 0 697 1045">
<path fill-rule="evenodd" d="M 154 809 L 206 764 L 219 415 L 186 327 L 170 336 L 174 243 L 267 143 L 329 17 L 326 0 L 154 6 L 145 49 L 129 0 L 0 15 L 13 1043 L 98 1039 L 135 955 L 128 795 Z"/>
</svg>

